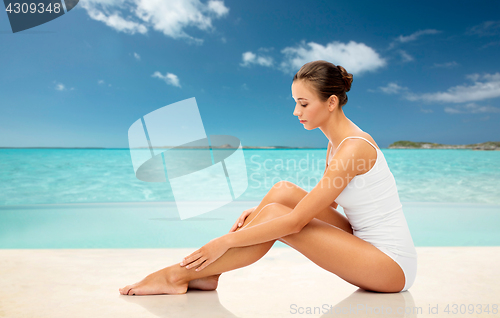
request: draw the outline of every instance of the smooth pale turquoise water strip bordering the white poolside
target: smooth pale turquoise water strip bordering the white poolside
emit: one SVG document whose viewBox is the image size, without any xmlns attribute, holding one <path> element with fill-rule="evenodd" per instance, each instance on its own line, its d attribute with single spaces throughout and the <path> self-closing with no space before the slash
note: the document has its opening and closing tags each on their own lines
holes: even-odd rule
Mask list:
<svg viewBox="0 0 500 318">
<path fill-rule="evenodd" d="M 198 248 L 258 203 L 234 201 L 184 220 L 175 202 L 0 206 L 0 248 Z M 499 205 L 402 204 L 415 246 L 500 246 Z"/>
</svg>

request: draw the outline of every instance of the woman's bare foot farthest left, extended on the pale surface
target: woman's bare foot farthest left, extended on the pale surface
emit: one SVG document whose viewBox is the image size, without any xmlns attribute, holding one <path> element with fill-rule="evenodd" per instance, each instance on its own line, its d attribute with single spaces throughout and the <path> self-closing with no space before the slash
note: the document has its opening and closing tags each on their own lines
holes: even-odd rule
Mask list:
<svg viewBox="0 0 500 318">
<path fill-rule="evenodd" d="M 175 266 L 175 265 L 174 265 Z M 196 283 L 195 283 L 196 284 Z M 199 284 L 199 283 L 198 283 Z M 199 284 L 201 285 L 201 284 Z M 120 288 L 122 295 L 185 294 L 188 283 L 181 283 L 173 268 L 166 267 L 149 274 L 138 283 Z"/>
</svg>

